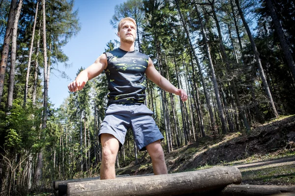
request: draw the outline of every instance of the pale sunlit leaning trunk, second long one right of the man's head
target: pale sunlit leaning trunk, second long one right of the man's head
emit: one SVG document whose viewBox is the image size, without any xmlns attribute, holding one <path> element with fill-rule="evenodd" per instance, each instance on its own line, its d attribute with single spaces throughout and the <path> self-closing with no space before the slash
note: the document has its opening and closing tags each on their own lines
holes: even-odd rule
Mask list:
<svg viewBox="0 0 295 196">
<path fill-rule="evenodd" d="M 199 22 L 201 25 L 201 30 L 202 30 L 202 34 L 203 34 L 203 42 L 205 44 L 205 50 L 206 50 L 206 54 L 207 54 L 207 58 L 208 58 L 208 64 L 209 64 L 209 67 L 211 70 L 211 77 L 212 77 L 212 82 L 213 82 L 213 86 L 214 86 L 214 93 L 215 93 L 215 97 L 216 97 L 218 113 L 219 113 L 219 117 L 220 117 L 220 121 L 221 121 L 221 125 L 222 125 L 222 132 L 226 133 L 228 128 L 227 128 L 227 124 L 226 124 L 226 120 L 225 120 L 224 109 L 223 109 L 222 103 L 221 103 L 221 98 L 220 98 L 220 93 L 219 93 L 218 84 L 217 84 L 217 80 L 216 80 L 215 70 L 214 70 L 214 66 L 213 66 L 212 58 L 211 58 L 211 54 L 210 54 L 210 48 L 209 48 L 209 45 L 207 42 L 207 40 L 208 40 L 207 35 L 205 32 L 203 20 L 200 16 L 197 5 L 196 5 L 196 13 L 198 15 Z"/>
</svg>

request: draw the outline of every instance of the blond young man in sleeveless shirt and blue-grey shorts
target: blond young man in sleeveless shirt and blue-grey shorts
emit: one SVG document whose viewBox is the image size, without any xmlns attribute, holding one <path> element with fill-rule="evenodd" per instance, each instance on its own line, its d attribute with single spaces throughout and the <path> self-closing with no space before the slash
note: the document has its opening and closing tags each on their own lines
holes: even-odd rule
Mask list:
<svg viewBox="0 0 295 196">
<path fill-rule="evenodd" d="M 99 131 L 102 146 L 100 179 L 115 178 L 117 153 L 124 144 L 129 127 L 132 128 L 137 147 L 140 150 L 148 150 L 154 174 L 167 173 L 164 152 L 160 144 L 164 137 L 151 117 L 153 112 L 144 104 L 145 75 L 163 90 L 180 96 L 182 101 L 187 100 L 185 91 L 177 89 L 158 73 L 148 55 L 134 50 L 136 29 L 134 19 L 122 19 L 118 24 L 120 47 L 100 55 L 68 85 L 70 92 L 76 92 L 83 89 L 88 80 L 103 70 L 107 75 L 109 101 Z"/>
</svg>

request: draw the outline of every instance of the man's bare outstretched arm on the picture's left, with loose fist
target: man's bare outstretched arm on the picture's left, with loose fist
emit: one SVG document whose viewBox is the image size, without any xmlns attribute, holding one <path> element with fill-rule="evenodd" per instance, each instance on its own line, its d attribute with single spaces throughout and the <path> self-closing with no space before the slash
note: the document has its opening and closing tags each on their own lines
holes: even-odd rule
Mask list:
<svg viewBox="0 0 295 196">
<path fill-rule="evenodd" d="M 76 92 L 82 90 L 88 80 L 102 73 L 107 66 L 108 61 L 106 54 L 100 55 L 92 65 L 80 72 L 76 79 L 68 85 L 69 91 Z"/>
</svg>

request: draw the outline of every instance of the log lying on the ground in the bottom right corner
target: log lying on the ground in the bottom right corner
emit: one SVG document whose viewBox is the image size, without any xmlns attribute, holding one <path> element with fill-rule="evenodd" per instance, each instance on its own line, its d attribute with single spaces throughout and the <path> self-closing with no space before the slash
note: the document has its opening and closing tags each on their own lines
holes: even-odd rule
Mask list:
<svg viewBox="0 0 295 196">
<path fill-rule="evenodd" d="M 222 190 L 222 196 L 270 196 L 295 192 L 295 186 L 273 185 L 228 185 Z"/>
</svg>

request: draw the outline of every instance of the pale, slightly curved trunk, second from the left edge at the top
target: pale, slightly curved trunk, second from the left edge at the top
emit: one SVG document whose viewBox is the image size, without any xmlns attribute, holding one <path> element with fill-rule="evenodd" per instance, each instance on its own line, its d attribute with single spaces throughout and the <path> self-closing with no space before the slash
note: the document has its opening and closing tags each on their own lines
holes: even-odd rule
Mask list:
<svg viewBox="0 0 295 196">
<path fill-rule="evenodd" d="M 17 28 L 18 22 L 21 15 L 21 9 L 23 6 L 23 0 L 20 0 L 16 9 L 15 19 L 12 30 L 12 41 L 11 41 L 11 63 L 10 63 L 10 73 L 8 80 L 8 95 L 7 95 L 7 107 L 12 106 L 13 100 L 13 89 L 14 89 L 14 78 L 15 78 L 15 61 L 16 61 L 16 41 L 17 41 Z"/>
</svg>

